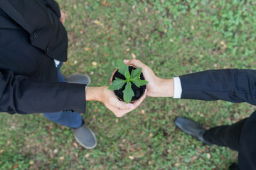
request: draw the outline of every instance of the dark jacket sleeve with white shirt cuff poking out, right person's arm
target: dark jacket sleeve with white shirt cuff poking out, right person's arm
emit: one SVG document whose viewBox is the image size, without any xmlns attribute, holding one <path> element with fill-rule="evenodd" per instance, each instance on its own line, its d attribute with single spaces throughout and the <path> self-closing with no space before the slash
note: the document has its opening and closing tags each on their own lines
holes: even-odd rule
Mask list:
<svg viewBox="0 0 256 170">
<path fill-rule="evenodd" d="M 256 70 L 208 70 L 180 77 L 181 98 L 224 100 L 256 105 Z"/>
</svg>

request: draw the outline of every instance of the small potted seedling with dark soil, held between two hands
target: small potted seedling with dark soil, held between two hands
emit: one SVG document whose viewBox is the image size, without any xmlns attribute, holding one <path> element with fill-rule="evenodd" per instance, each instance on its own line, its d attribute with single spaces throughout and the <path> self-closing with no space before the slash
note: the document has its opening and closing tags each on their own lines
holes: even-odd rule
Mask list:
<svg viewBox="0 0 256 170">
<path fill-rule="evenodd" d="M 117 68 L 112 74 L 112 84 L 108 89 L 125 103 L 137 101 L 145 92 L 146 81 L 142 74 L 142 68 L 127 66 L 122 60 L 117 60 Z"/>
</svg>

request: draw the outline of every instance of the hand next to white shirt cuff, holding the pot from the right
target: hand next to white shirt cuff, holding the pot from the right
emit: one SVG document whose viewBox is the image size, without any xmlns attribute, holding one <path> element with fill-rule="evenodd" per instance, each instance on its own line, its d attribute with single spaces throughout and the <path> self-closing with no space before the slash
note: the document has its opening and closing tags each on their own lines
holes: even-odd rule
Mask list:
<svg viewBox="0 0 256 170">
<path fill-rule="evenodd" d="M 146 95 L 151 97 L 173 97 L 174 96 L 174 79 L 161 79 L 156 77 L 156 74 L 143 64 L 141 61 L 132 59 L 124 60 L 124 63 L 127 65 L 132 65 L 134 67 L 141 67 L 142 73 L 146 79 L 149 81 L 146 84 Z"/>
</svg>

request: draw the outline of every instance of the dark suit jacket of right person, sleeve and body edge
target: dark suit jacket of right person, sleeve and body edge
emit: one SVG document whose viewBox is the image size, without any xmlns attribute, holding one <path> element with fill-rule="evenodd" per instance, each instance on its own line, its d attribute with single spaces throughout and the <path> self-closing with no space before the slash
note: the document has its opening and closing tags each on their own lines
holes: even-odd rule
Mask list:
<svg viewBox="0 0 256 170">
<path fill-rule="evenodd" d="M 256 70 L 208 70 L 180 77 L 181 98 L 247 102 L 256 106 Z M 256 112 L 242 128 L 238 152 L 240 169 L 256 169 Z"/>
</svg>

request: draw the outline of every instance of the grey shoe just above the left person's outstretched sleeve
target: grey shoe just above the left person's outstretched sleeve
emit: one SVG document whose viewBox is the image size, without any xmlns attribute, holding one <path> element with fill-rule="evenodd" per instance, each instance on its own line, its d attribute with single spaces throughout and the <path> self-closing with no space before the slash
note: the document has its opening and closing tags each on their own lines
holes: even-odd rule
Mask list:
<svg viewBox="0 0 256 170">
<path fill-rule="evenodd" d="M 91 79 L 86 74 L 70 74 L 67 77 L 65 77 L 65 80 L 68 83 L 75 83 L 75 84 L 87 84 L 87 86 L 90 85 Z"/>
</svg>

